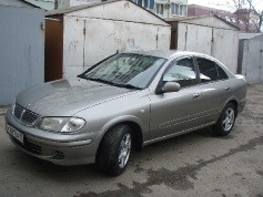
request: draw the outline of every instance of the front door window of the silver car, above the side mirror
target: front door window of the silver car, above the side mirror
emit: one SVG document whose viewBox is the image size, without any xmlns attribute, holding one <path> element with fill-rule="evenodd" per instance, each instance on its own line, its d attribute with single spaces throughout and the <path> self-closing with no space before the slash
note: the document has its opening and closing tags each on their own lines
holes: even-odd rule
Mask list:
<svg viewBox="0 0 263 197">
<path fill-rule="evenodd" d="M 176 82 L 181 87 L 196 84 L 192 59 L 182 59 L 171 63 L 163 75 L 164 82 Z"/>
</svg>

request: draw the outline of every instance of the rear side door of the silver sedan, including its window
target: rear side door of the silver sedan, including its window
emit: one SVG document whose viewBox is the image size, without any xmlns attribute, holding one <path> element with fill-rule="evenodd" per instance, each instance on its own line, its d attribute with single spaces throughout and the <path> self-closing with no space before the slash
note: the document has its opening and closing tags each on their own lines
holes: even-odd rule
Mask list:
<svg viewBox="0 0 263 197">
<path fill-rule="evenodd" d="M 200 71 L 201 111 L 200 124 L 216 121 L 221 110 L 230 96 L 230 84 L 224 70 L 214 61 L 196 58 Z"/>
</svg>

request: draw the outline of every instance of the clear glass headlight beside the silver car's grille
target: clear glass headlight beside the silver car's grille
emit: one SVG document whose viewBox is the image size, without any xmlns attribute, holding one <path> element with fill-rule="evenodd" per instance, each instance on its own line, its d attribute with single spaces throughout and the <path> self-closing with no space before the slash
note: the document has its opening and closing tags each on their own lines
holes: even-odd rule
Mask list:
<svg viewBox="0 0 263 197">
<path fill-rule="evenodd" d="M 38 128 L 51 132 L 71 133 L 81 129 L 84 125 L 85 121 L 80 117 L 43 117 L 39 122 Z"/>
</svg>

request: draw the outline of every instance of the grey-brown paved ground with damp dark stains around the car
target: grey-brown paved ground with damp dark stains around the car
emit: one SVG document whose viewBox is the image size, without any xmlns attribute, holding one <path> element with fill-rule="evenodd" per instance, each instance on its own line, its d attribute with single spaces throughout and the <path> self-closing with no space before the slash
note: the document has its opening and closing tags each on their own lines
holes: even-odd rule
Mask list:
<svg viewBox="0 0 263 197">
<path fill-rule="evenodd" d="M 249 85 L 232 133 L 211 128 L 146 146 L 119 177 L 94 165 L 61 167 L 9 141 L 0 110 L 0 196 L 253 196 L 263 197 L 263 84 Z"/>
</svg>

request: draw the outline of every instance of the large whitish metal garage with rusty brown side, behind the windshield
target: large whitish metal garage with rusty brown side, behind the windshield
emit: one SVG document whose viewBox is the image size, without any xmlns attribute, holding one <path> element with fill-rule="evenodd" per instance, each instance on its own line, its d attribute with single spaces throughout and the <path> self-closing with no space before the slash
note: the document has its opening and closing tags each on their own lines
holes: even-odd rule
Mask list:
<svg viewBox="0 0 263 197">
<path fill-rule="evenodd" d="M 117 52 L 169 49 L 171 27 L 127 0 L 49 11 L 45 81 L 71 77 Z"/>
</svg>

